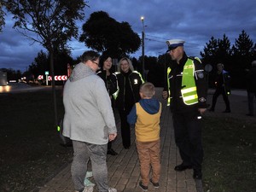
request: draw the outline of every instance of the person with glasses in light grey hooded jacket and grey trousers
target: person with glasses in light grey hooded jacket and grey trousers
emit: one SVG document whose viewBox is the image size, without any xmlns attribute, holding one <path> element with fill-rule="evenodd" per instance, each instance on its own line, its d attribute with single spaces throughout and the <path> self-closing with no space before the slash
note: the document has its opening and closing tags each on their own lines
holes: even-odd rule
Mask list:
<svg viewBox="0 0 256 192">
<path fill-rule="evenodd" d="M 106 162 L 108 141 L 115 139 L 117 129 L 108 91 L 96 75 L 99 58 L 95 51 L 85 51 L 64 86 L 63 136 L 73 141 L 71 174 L 76 192 L 93 191 L 92 186 L 84 186 L 89 159 L 98 191 L 117 192 L 108 187 Z"/>
</svg>

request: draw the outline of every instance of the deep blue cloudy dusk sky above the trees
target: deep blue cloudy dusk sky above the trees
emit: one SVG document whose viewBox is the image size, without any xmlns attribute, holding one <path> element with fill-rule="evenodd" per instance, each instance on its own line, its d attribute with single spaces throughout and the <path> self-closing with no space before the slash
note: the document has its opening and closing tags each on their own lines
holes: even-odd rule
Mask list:
<svg viewBox="0 0 256 192">
<path fill-rule="evenodd" d="M 230 39 L 231 45 L 242 30 L 256 43 L 256 1 L 255 0 L 91 0 L 90 8 L 85 8 L 84 21 L 95 11 L 105 11 L 113 19 L 130 23 L 134 32 L 141 37 L 144 16 L 145 55 L 158 56 L 166 52 L 166 40 L 182 38 L 188 55 L 200 56 L 200 51 L 210 38 Z M 12 15 L 5 17 L 6 25 L 0 33 L 0 68 L 13 68 L 26 71 L 38 52 L 46 50 L 40 44 L 32 44 L 12 28 Z M 80 31 L 81 33 L 81 31 Z M 69 42 L 73 48 L 72 56 L 82 55 L 87 48 L 83 43 L 73 39 Z M 138 49 L 135 56 L 142 55 Z"/>
</svg>

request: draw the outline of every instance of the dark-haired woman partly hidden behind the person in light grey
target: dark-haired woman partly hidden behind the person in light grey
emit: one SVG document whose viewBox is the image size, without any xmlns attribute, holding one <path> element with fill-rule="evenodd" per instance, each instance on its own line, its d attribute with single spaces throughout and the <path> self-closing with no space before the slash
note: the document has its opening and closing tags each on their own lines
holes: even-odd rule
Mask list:
<svg viewBox="0 0 256 192">
<path fill-rule="evenodd" d="M 111 73 L 110 71 L 112 67 L 112 58 L 106 54 L 103 54 L 101 56 L 100 67 L 101 67 L 101 70 L 98 71 L 97 75 L 100 76 L 105 83 L 105 86 L 108 90 L 108 95 L 112 103 L 112 108 L 114 110 L 113 94 L 117 91 L 117 79 L 115 74 Z M 118 154 L 113 150 L 112 142 L 110 141 L 108 142 L 108 154 L 111 154 L 111 155 Z"/>
</svg>

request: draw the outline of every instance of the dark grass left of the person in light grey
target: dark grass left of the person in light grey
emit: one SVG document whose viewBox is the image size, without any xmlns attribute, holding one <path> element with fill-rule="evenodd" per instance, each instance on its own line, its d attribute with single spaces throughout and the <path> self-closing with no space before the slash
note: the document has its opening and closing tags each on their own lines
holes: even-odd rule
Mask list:
<svg viewBox="0 0 256 192">
<path fill-rule="evenodd" d="M 56 96 L 61 117 L 61 90 Z M 73 155 L 60 145 L 52 92 L 1 94 L 0 106 L 0 191 L 38 191 Z"/>
</svg>

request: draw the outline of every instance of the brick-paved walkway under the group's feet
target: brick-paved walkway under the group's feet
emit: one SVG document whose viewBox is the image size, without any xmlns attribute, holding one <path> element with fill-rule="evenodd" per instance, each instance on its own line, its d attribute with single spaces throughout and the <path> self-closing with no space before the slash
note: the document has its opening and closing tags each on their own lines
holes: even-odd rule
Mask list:
<svg viewBox="0 0 256 192">
<path fill-rule="evenodd" d="M 193 171 L 175 172 L 174 166 L 181 163 L 177 147 L 174 142 L 174 134 L 172 129 L 172 115 L 169 108 L 166 107 L 166 102 L 161 99 L 161 88 L 157 88 L 157 97 L 162 102 L 163 113 L 161 119 L 161 176 L 160 188 L 154 189 L 151 184 L 148 186 L 148 192 L 196 192 L 201 190 L 201 180 L 195 181 L 192 177 Z M 221 113 L 224 110 L 223 98 L 218 98 L 216 112 L 207 112 L 206 115 L 239 115 L 247 117 L 247 97 L 245 94 L 233 93 L 230 96 L 232 113 Z M 212 102 L 212 92 L 210 91 L 209 102 Z M 237 109 L 235 109 L 235 107 Z M 119 122 L 117 122 L 119 127 Z M 111 156 L 108 154 L 108 180 L 109 186 L 118 190 L 118 192 L 141 192 L 138 187 L 140 181 L 139 161 L 137 159 L 137 150 L 134 142 L 134 130 L 131 130 L 131 148 L 125 149 L 121 143 L 120 130 L 119 137 L 113 143 L 113 148 L 119 154 Z M 197 188 L 197 189 L 196 189 Z M 70 165 L 59 172 L 49 183 L 46 183 L 40 192 L 73 192 L 73 182 L 70 174 Z M 94 190 L 97 191 L 96 188 Z"/>
</svg>

